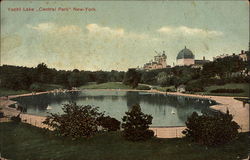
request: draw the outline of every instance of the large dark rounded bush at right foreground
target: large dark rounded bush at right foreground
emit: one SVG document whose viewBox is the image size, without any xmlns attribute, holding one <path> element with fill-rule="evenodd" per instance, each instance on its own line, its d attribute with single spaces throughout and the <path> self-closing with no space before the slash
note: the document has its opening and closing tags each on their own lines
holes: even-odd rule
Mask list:
<svg viewBox="0 0 250 160">
<path fill-rule="evenodd" d="M 238 136 L 240 126 L 232 121 L 233 116 L 227 111 L 215 115 L 201 115 L 194 112 L 186 121 L 187 129 L 182 133 L 191 140 L 204 145 L 225 144 Z"/>
</svg>

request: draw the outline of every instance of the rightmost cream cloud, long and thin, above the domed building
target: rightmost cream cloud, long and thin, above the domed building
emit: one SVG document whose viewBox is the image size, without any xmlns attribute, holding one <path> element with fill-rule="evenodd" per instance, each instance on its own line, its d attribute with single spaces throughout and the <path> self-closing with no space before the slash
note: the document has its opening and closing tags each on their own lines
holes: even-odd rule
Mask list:
<svg viewBox="0 0 250 160">
<path fill-rule="evenodd" d="M 189 28 L 186 26 L 180 26 L 180 27 L 165 26 L 158 29 L 157 32 L 168 35 L 182 34 L 184 36 L 202 36 L 202 37 L 217 37 L 223 35 L 223 33 L 220 31 L 204 30 L 200 28 Z"/>
</svg>

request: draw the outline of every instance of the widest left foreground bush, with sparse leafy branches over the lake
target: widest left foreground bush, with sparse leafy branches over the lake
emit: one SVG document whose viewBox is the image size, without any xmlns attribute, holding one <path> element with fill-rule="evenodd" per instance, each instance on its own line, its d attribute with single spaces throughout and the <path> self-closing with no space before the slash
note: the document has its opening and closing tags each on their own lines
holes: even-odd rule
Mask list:
<svg viewBox="0 0 250 160">
<path fill-rule="evenodd" d="M 103 116 L 98 107 L 90 105 L 78 106 L 70 103 L 63 105 L 62 110 L 64 114 L 51 113 L 43 123 L 54 128 L 57 135 L 72 138 L 93 136 L 97 132 L 97 119 Z"/>
</svg>

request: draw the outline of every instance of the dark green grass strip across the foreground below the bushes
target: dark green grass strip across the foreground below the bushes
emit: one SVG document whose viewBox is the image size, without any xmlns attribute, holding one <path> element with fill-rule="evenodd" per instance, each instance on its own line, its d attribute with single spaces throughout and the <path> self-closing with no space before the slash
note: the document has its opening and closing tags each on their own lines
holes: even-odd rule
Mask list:
<svg viewBox="0 0 250 160">
<path fill-rule="evenodd" d="M 27 124 L 0 123 L 1 154 L 8 159 L 81 160 L 235 160 L 247 157 L 249 133 L 219 147 L 205 147 L 187 139 L 125 141 L 119 132 L 100 133 L 72 141 Z"/>
</svg>

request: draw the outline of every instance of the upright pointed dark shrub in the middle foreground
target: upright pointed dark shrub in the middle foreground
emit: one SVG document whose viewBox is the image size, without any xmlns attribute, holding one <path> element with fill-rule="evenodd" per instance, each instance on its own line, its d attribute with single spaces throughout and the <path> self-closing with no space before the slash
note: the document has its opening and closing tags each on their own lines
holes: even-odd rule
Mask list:
<svg viewBox="0 0 250 160">
<path fill-rule="evenodd" d="M 152 124 L 153 117 L 144 114 L 139 105 L 133 105 L 132 109 L 125 113 L 122 118 L 123 136 L 127 140 L 139 141 L 152 138 L 154 132 L 148 130 L 149 125 Z"/>
</svg>

